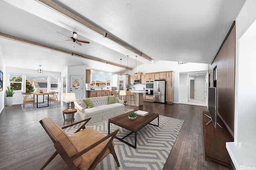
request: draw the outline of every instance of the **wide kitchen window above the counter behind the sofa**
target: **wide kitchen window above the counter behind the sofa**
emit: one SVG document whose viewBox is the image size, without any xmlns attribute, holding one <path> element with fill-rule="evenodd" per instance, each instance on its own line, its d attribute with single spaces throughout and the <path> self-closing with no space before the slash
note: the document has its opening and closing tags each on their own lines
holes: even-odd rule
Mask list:
<svg viewBox="0 0 256 170">
<path fill-rule="evenodd" d="M 90 86 L 110 86 L 111 83 L 111 76 L 109 75 L 99 75 L 99 74 L 92 74 L 91 75 L 92 83 Z"/>
</svg>

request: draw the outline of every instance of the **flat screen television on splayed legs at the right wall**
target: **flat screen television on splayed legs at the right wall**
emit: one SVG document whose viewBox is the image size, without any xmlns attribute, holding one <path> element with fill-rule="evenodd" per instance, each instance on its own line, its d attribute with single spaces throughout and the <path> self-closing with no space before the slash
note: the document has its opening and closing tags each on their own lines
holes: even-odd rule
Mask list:
<svg viewBox="0 0 256 170">
<path fill-rule="evenodd" d="M 216 90 L 216 87 L 208 88 L 208 110 L 209 110 L 211 117 L 209 117 L 208 115 L 206 115 L 206 116 L 209 117 L 211 120 L 206 125 L 209 125 L 212 122 L 214 125 L 214 128 L 216 128 L 216 125 L 218 124 L 217 123 L 217 90 Z"/>
</svg>

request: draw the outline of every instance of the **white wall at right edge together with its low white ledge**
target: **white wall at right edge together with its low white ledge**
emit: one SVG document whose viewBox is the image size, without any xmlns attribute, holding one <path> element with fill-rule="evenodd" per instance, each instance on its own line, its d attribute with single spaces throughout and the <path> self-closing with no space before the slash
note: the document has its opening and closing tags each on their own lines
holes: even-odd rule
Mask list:
<svg viewBox="0 0 256 170">
<path fill-rule="evenodd" d="M 255 7 L 255 0 L 247 0 L 236 19 L 234 142 L 226 144 L 236 169 L 240 166 L 256 167 Z"/>
</svg>

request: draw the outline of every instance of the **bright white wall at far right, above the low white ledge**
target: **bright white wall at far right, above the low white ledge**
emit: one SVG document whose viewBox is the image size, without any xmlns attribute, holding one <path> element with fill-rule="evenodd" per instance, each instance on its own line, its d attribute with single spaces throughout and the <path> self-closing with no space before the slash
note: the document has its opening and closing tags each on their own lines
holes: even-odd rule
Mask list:
<svg viewBox="0 0 256 170">
<path fill-rule="evenodd" d="M 236 21 L 236 93 L 235 142 L 252 144 L 256 141 L 256 1 L 246 1 Z M 254 22 L 254 35 L 242 35 Z M 244 35 L 246 36 L 246 35 Z M 240 38 L 241 37 L 241 38 Z M 251 74 L 248 74 L 251 73 Z M 245 126 L 246 125 L 246 126 Z"/>
</svg>

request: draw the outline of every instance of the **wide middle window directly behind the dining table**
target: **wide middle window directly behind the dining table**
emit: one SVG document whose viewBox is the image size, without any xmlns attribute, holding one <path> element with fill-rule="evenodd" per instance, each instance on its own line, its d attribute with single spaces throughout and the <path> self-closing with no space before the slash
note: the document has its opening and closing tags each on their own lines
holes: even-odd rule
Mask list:
<svg viewBox="0 0 256 170">
<path fill-rule="evenodd" d="M 26 81 L 34 87 L 34 91 L 47 91 L 48 76 L 26 75 Z"/>
</svg>

